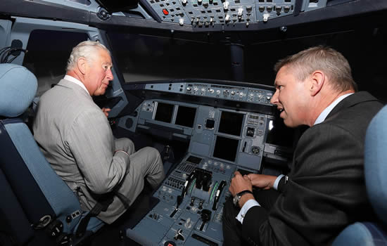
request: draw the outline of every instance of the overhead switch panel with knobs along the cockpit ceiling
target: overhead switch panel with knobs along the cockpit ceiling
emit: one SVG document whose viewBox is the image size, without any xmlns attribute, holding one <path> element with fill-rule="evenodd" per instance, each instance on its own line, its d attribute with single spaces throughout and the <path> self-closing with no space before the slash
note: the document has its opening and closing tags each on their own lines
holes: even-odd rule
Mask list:
<svg viewBox="0 0 387 246">
<path fill-rule="evenodd" d="M 163 22 L 208 28 L 250 25 L 326 6 L 326 0 L 146 0 Z M 296 3 L 296 1 L 299 1 Z M 297 9 L 296 9 L 297 8 Z"/>
</svg>

